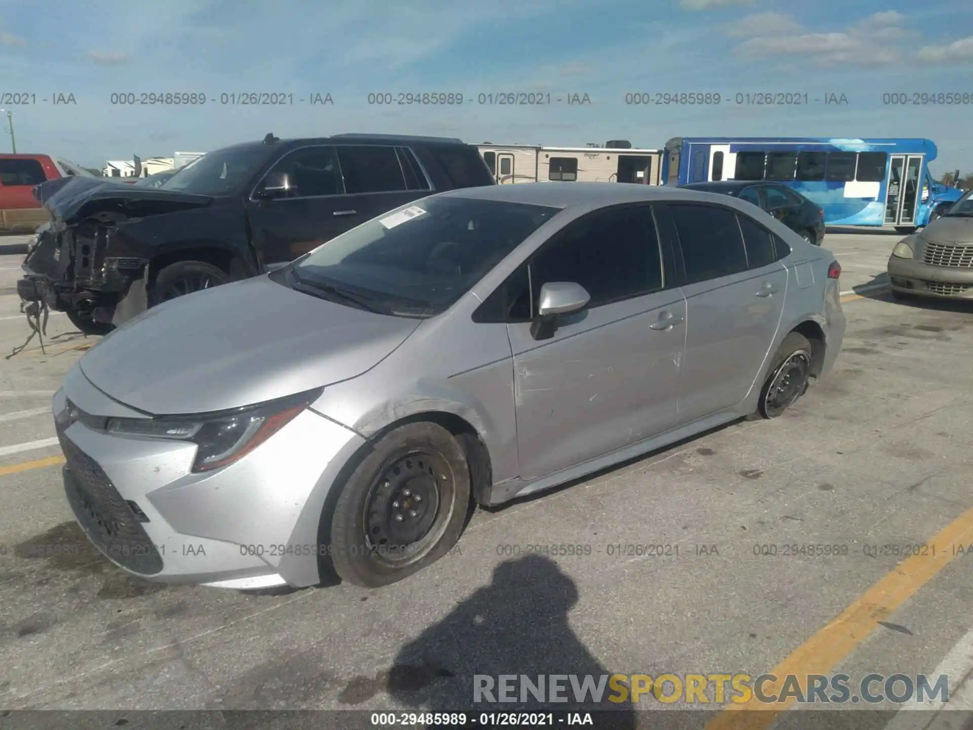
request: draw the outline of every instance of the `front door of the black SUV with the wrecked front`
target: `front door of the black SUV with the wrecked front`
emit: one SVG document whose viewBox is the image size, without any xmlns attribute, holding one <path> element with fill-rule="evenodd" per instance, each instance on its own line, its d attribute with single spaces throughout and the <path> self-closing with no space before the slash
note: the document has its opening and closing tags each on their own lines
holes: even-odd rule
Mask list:
<svg viewBox="0 0 973 730">
<path fill-rule="evenodd" d="M 334 147 L 311 145 L 286 153 L 247 201 L 252 240 L 262 263 L 293 261 L 367 220 L 364 198 L 345 194 Z"/>
</svg>

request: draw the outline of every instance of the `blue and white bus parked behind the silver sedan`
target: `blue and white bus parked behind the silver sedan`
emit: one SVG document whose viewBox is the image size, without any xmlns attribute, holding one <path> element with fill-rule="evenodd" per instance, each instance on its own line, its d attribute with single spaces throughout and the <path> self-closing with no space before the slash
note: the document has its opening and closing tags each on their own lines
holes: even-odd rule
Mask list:
<svg viewBox="0 0 973 730">
<path fill-rule="evenodd" d="M 664 185 L 774 180 L 824 210 L 829 226 L 887 226 L 912 233 L 962 191 L 932 179 L 928 139 L 674 137 L 663 156 Z M 943 208 L 940 207 L 940 210 Z"/>
</svg>

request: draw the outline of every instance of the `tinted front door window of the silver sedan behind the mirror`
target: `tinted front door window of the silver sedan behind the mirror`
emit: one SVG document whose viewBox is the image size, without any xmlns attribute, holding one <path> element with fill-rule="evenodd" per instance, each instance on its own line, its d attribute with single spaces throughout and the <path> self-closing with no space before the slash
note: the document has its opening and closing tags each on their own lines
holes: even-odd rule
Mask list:
<svg viewBox="0 0 973 730">
<path fill-rule="evenodd" d="M 581 284 L 592 297 L 589 307 L 662 289 L 652 208 L 608 208 L 568 224 L 530 264 L 534 311 L 541 287 L 554 281 Z"/>
</svg>

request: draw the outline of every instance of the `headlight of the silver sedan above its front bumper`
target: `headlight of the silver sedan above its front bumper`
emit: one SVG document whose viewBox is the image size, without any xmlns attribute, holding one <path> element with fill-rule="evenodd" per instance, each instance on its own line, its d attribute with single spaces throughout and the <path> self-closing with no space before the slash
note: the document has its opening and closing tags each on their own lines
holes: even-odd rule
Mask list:
<svg viewBox="0 0 973 730">
<path fill-rule="evenodd" d="M 256 406 L 193 416 L 109 419 L 109 433 L 189 441 L 198 446 L 193 471 L 211 471 L 246 456 L 321 395 L 323 388 Z"/>
</svg>

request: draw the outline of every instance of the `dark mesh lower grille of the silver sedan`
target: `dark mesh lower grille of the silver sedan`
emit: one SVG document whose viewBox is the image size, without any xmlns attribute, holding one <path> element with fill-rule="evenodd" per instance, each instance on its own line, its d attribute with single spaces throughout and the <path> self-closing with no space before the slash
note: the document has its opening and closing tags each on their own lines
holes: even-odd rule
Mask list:
<svg viewBox="0 0 973 730">
<path fill-rule="evenodd" d="M 126 500 L 94 460 L 64 436 L 64 492 L 78 522 L 95 546 L 120 566 L 143 575 L 162 570 L 162 556 Z"/>
</svg>

